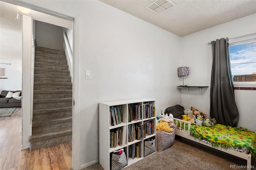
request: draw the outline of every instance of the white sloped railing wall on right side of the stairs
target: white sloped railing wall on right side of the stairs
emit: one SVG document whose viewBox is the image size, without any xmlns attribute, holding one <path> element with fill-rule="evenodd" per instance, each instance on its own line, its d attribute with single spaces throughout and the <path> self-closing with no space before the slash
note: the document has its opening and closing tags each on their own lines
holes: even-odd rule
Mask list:
<svg viewBox="0 0 256 170">
<path fill-rule="evenodd" d="M 63 32 L 63 36 L 64 36 L 64 49 L 65 49 L 66 58 L 68 61 L 68 68 L 70 70 L 71 82 L 73 83 L 73 52 L 70 47 L 67 33 Z"/>
</svg>

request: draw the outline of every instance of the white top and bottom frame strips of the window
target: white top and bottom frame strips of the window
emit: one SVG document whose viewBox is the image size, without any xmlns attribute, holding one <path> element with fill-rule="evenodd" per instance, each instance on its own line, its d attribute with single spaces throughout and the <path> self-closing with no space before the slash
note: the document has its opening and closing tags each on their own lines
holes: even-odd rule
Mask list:
<svg viewBox="0 0 256 170">
<path fill-rule="evenodd" d="M 231 45 L 238 45 L 242 43 L 249 43 L 256 41 L 256 33 L 248 34 L 245 36 L 240 36 L 236 38 L 231 38 L 228 40 L 229 46 Z M 256 87 L 256 81 L 233 81 L 234 87 Z"/>
</svg>

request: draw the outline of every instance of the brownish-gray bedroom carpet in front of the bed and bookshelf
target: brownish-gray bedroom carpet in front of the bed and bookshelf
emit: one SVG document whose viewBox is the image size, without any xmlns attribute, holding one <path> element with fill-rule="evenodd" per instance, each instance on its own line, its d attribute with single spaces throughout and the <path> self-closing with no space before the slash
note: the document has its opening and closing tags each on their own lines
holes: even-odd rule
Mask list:
<svg viewBox="0 0 256 170">
<path fill-rule="evenodd" d="M 176 137 L 170 148 L 156 152 L 124 170 L 230 170 L 230 165 L 246 165 L 246 161 Z M 252 162 L 252 165 L 256 167 L 256 162 Z M 84 170 L 103 168 L 100 164 L 94 164 Z"/>
</svg>

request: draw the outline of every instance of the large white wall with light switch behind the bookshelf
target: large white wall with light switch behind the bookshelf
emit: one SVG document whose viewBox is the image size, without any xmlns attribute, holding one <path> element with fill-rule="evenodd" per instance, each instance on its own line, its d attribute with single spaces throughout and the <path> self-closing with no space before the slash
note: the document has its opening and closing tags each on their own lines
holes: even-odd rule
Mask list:
<svg viewBox="0 0 256 170">
<path fill-rule="evenodd" d="M 74 57 L 80 168 L 98 162 L 99 102 L 153 98 L 157 114 L 179 102 L 180 37 L 96 0 L 27 2 L 71 14 L 80 25 L 74 42 L 75 52 L 80 49 Z M 84 79 L 85 70 L 92 79 Z"/>
</svg>

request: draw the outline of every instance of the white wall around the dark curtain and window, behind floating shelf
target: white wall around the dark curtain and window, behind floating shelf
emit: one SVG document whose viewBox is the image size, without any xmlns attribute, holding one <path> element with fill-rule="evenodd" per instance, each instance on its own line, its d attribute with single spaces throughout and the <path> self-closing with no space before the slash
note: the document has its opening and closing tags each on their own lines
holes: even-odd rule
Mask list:
<svg viewBox="0 0 256 170">
<path fill-rule="evenodd" d="M 188 85 L 209 86 L 202 90 L 182 90 L 182 105 L 191 106 L 210 116 L 210 82 L 212 69 L 212 48 L 208 45 L 220 38 L 235 38 L 256 32 L 256 14 L 240 18 L 219 26 L 182 37 L 181 65 L 190 67 L 190 75 L 185 78 Z M 240 113 L 238 126 L 246 127 L 256 132 L 252 119 L 256 116 L 256 91 L 235 90 L 235 99 Z"/>
</svg>

